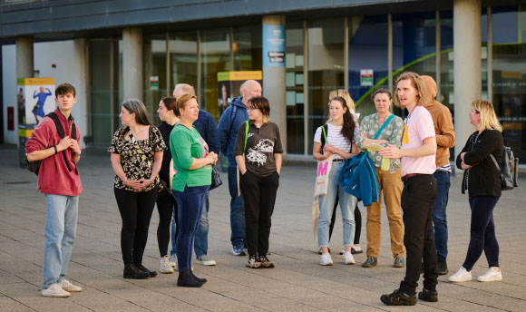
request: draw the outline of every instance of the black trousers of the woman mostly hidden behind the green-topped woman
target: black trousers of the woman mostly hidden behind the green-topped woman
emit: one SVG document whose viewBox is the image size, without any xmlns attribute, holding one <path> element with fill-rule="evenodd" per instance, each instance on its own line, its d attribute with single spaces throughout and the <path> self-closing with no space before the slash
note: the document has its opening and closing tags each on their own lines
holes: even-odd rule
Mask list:
<svg viewBox="0 0 526 312">
<path fill-rule="evenodd" d="M 157 210 L 159 211 L 159 226 L 157 227 L 157 243 L 161 257 L 168 255 L 168 245 L 170 244 L 170 225 L 171 216 L 175 219 L 175 239 L 179 233 L 179 220 L 177 218 L 177 202 L 167 190 L 160 190 L 157 195 Z M 173 210 L 176 213 L 173 213 Z"/>
</svg>

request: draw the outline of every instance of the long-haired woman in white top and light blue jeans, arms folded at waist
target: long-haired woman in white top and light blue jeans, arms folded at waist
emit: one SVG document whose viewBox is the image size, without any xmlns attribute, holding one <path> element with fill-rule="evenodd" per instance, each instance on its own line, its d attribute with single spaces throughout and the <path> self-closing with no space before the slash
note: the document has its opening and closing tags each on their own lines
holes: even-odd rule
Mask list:
<svg viewBox="0 0 526 312">
<path fill-rule="evenodd" d="M 345 263 L 355 264 L 355 259 L 351 254 L 351 247 L 355 237 L 354 210 L 356 197 L 348 194 L 344 188 L 339 186 L 338 177 L 344 161 L 358 153 L 355 143 L 356 122 L 347 107 L 346 100 L 342 97 L 336 96 L 329 102 L 329 113 L 331 122 L 317 129 L 313 147 L 313 157 L 317 161 L 326 160 L 329 156 L 334 155 L 332 170 L 328 176 L 327 193 L 318 198 L 320 211 L 317 221 L 317 239 L 318 246 L 322 250 L 320 264 L 322 266 L 333 265 L 332 258 L 328 252 L 328 238 L 329 224 L 335 207 L 336 195 L 339 195 L 338 200 L 344 223 Z M 322 129 L 325 127 L 326 129 Z M 326 133 L 324 130 L 326 130 Z"/>
</svg>

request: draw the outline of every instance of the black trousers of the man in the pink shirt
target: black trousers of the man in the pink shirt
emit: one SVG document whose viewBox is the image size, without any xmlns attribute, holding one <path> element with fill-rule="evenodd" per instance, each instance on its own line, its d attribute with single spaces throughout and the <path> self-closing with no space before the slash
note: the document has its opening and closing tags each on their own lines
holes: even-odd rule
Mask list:
<svg viewBox="0 0 526 312">
<path fill-rule="evenodd" d="M 424 288 L 436 288 L 436 249 L 433 238 L 433 203 L 436 200 L 436 180 L 432 174 L 422 174 L 404 182 L 402 210 L 404 212 L 404 245 L 407 255 L 405 278 L 400 290 L 415 293 L 424 258 Z"/>
</svg>

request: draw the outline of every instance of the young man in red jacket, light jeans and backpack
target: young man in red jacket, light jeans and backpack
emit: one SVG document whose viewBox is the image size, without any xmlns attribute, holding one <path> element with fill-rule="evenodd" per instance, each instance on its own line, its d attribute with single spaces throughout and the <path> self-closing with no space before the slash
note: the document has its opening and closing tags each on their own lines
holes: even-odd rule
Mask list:
<svg viewBox="0 0 526 312">
<path fill-rule="evenodd" d="M 81 158 L 79 142 L 72 138 L 75 88 L 68 83 L 55 90 L 54 113 L 63 126 L 60 138 L 52 118 L 44 118 L 25 143 L 27 161 L 42 161 L 38 190 L 45 194 L 44 283 L 42 296 L 69 297 L 81 291 L 65 275 L 77 229 L 79 195 L 83 191 L 76 163 Z M 76 128 L 75 138 L 80 138 Z"/>
</svg>

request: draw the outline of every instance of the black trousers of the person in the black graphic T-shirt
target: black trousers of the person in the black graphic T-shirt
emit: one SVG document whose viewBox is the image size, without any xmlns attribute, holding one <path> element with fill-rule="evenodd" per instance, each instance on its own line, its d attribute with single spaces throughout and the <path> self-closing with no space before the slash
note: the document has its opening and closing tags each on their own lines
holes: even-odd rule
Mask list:
<svg viewBox="0 0 526 312">
<path fill-rule="evenodd" d="M 245 236 L 248 255 L 267 255 L 268 237 L 279 175 L 275 171 L 268 177 L 258 177 L 247 171 L 239 181 L 241 195 L 245 201 Z"/>
</svg>

